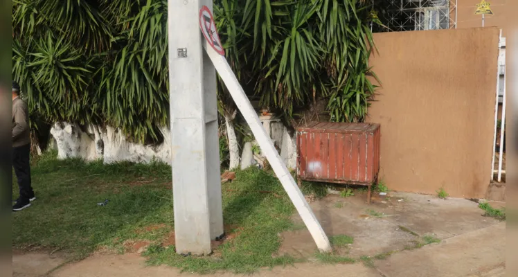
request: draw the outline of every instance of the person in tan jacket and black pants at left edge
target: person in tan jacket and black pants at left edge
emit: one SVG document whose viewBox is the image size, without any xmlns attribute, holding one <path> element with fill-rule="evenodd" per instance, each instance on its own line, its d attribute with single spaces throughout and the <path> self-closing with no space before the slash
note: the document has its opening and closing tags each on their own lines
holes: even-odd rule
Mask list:
<svg viewBox="0 0 518 277">
<path fill-rule="evenodd" d="M 12 168 L 18 181 L 19 197 L 12 211 L 30 207 L 36 199 L 30 184 L 30 128 L 29 113 L 24 100 L 20 98 L 20 87 L 12 82 Z"/>
</svg>

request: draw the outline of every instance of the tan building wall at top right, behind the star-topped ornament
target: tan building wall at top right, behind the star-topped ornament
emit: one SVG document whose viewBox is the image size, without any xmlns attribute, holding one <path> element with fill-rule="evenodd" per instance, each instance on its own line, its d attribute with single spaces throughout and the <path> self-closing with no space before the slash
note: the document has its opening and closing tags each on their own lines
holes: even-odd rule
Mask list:
<svg viewBox="0 0 518 277">
<path fill-rule="evenodd" d="M 493 15 L 485 15 L 484 26 L 503 28 L 506 24 L 505 13 L 506 9 L 510 8 L 510 5 L 508 5 L 510 1 L 517 0 L 486 0 L 491 4 Z M 480 2 L 481 0 L 457 0 L 457 28 L 482 26 L 482 15 L 475 15 L 476 4 Z M 506 35 L 505 30 L 502 30 L 502 35 Z"/>
</svg>

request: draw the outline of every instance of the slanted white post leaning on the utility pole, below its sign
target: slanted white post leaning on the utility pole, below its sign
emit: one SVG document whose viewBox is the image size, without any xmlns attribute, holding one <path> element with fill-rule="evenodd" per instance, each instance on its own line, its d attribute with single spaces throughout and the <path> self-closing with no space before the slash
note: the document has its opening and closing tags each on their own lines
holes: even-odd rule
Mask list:
<svg viewBox="0 0 518 277">
<path fill-rule="evenodd" d="M 241 111 L 241 114 L 250 126 L 253 136 L 256 137 L 256 141 L 258 142 L 261 151 L 264 152 L 271 168 L 277 175 L 280 184 L 283 185 L 289 199 L 292 200 L 298 214 L 301 215 L 304 224 L 307 226 L 307 230 L 310 231 L 313 240 L 316 243 L 316 247 L 318 247 L 320 251 L 331 251 L 332 249 L 328 236 L 325 235 L 322 226 L 319 221 L 316 220 L 310 205 L 307 204 L 304 195 L 301 193 L 301 190 L 298 189 L 298 186 L 292 175 L 289 173 L 283 159 L 280 159 L 280 156 L 274 147 L 274 143 L 271 142 L 269 135 L 265 131 L 265 127 L 263 127 L 259 120 L 257 112 L 253 109 L 247 95 L 241 87 L 241 84 L 238 82 L 238 79 L 235 78 L 229 63 L 226 61 L 224 56 L 211 48 L 208 42 L 205 42 L 203 46 L 208 57 L 211 58 L 217 73 L 220 74 L 220 77 L 225 83 L 226 88 L 229 89 L 235 105 L 238 106 L 238 109 Z"/>
</svg>

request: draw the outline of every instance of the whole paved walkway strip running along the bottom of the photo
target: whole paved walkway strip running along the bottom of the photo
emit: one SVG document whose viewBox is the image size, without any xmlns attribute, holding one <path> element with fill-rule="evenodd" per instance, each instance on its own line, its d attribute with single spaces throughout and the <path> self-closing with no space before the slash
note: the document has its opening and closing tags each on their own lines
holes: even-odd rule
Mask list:
<svg viewBox="0 0 518 277">
<path fill-rule="evenodd" d="M 476 231 L 443 240 L 421 249 L 402 251 L 374 268 L 355 265 L 321 265 L 318 262 L 262 270 L 254 276 L 322 277 L 503 277 L 505 276 L 506 223 L 501 222 Z M 191 277 L 171 267 L 146 267 L 137 254 L 94 255 L 73 264 L 43 253 L 15 253 L 13 277 Z M 55 269 L 58 267 L 57 269 Z M 53 270 L 55 269 L 55 270 Z M 215 274 L 208 277 L 231 277 Z"/>
</svg>

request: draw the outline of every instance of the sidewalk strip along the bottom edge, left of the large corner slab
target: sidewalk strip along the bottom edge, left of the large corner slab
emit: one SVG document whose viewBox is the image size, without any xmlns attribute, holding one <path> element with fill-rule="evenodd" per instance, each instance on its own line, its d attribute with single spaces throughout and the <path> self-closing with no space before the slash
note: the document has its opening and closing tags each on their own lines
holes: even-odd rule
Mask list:
<svg viewBox="0 0 518 277">
<path fill-rule="evenodd" d="M 181 273 L 172 267 L 146 267 L 145 258 L 137 254 L 94 255 L 80 262 L 64 264 L 49 272 L 54 265 L 64 263 L 60 258 L 50 258 L 45 254 L 16 255 L 12 258 L 13 277 L 193 277 L 199 276 L 188 272 Z M 234 277 L 235 274 L 210 274 L 206 277 Z M 263 269 L 253 276 L 291 277 L 379 277 L 376 269 L 355 265 L 321 265 L 308 262 L 289 267 Z"/>
</svg>

